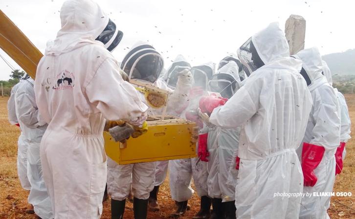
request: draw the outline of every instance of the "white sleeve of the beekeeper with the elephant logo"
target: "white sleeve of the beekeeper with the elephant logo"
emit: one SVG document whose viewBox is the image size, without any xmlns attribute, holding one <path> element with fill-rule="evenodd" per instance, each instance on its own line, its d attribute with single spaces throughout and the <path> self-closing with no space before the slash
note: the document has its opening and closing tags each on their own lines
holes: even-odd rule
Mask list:
<svg viewBox="0 0 355 219">
<path fill-rule="evenodd" d="M 108 120 L 135 123 L 146 116 L 148 107 L 139 99 L 137 90 L 122 79 L 119 66 L 112 59 L 101 64 L 85 92 L 89 102 Z"/>
</svg>

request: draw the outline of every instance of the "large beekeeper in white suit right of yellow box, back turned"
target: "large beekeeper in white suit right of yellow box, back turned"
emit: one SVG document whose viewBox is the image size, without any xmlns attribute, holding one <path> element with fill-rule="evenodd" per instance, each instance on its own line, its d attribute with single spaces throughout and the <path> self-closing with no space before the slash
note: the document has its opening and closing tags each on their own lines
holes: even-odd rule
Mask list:
<svg viewBox="0 0 355 219">
<path fill-rule="evenodd" d="M 300 193 L 303 187 L 295 149 L 306 130 L 311 94 L 299 74 L 302 62 L 289 57 L 285 34 L 277 23 L 251 37 L 240 54 L 242 50 L 257 70 L 210 117 L 211 123 L 223 128 L 242 126 L 236 216 L 297 218 L 301 198 L 277 194 Z M 206 97 L 200 108 L 212 111 L 216 102 Z"/>
</svg>

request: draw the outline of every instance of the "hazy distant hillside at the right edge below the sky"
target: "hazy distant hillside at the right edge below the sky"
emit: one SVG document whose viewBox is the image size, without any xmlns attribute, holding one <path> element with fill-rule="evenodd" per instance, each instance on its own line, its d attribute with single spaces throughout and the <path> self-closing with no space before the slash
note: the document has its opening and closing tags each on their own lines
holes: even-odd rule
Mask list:
<svg viewBox="0 0 355 219">
<path fill-rule="evenodd" d="M 355 49 L 328 54 L 322 59 L 327 62 L 333 75 L 355 75 Z"/>
</svg>

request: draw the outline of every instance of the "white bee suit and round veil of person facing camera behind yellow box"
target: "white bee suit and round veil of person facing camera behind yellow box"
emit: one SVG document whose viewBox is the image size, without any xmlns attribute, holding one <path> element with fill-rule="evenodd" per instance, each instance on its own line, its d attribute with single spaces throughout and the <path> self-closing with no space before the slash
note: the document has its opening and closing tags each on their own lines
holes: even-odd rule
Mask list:
<svg viewBox="0 0 355 219">
<path fill-rule="evenodd" d="M 146 58 L 146 60 L 144 58 Z M 153 60 L 156 66 L 152 66 L 153 64 L 151 64 Z M 142 64 L 140 64 L 140 62 L 142 62 Z M 138 79 L 145 83 L 151 83 L 155 87 L 173 91 L 162 78 L 158 78 L 163 66 L 163 58 L 160 54 L 153 46 L 145 44 L 144 42 L 138 42 L 133 45 L 121 63 L 122 69 L 129 75 L 130 79 Z M 155 75 L 139 74 L 139 70 L 136 70 L 139 67 L 149 67 L 152 71 L 147 72 L 155 72 Z M 181 106 L 187 101 L 187 94 L 192 83 L 193 80 L 189 71 L 185 72 L 182 77 L 179 77 L 177 88 L 173 94 L 170 95 L 170 99 L 168 100 L 166 115 L 179 114 Z M 140 93 L 139 97 L 144 103 L 147 103 L 143 93 Z M 150 107 L 147 110 L 147 114 L 162 115 L 162 111 L 163 108 L 154 109 Z M 168 161 L 119 165 L 109 158 L 107 178 L 108 193 L 114 200 L 121 201 L 128 197 L 132 186 L 134 197 L 148 199 L 154 186 L 160 185 L 164 181 L 166 168 L 168 168 Z"/>
</svg>

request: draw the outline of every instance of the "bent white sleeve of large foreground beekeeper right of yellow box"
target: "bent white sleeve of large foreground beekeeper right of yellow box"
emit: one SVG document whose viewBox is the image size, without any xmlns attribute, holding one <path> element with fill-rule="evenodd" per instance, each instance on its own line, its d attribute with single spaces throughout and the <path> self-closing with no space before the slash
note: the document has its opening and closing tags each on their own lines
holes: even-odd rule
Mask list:
<svg viewBox="0 0 355 219">
<path fill-rule="evenodd" d="M 256 83 L 240 88 L 223 106 L 213 110 L 210 122 L 225 129 L 243 125 L 257 111 L 259 93 Z"/>
</svg>

